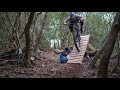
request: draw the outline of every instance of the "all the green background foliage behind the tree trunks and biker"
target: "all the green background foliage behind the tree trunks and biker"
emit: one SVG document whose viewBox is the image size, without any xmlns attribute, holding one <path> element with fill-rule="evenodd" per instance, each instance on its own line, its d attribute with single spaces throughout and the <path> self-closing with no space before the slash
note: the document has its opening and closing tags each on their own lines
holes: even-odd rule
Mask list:
<svg viewBox="0 0 120 90">
<path fill-rule="evenodd" d="M 15 17 L 17 12 L 8 12 L 9 18 L 12 24 L 15 21 Z M 84 20 L 84 34 L 89 34 L 90 36 L 90 43 L 99 48 L 102 41 L 105 39 L 106 35 L 108 34 L 112 21 L 114 19 L 115 13 L 113 12 L 76 12 L 85 18 Z M 36 22 L 35 27 L 32 25 L 31 27 L 31 35 L 35 41 L 38 33 L 40 32 L 41 23 L 44 17 L 44 12 L 37 16 L 39 12 L 36 12 Z M 6 18 L 5 13 L 2 13 L 4 20 L 12 32 L 12 28 L 8 19 Z M 21 12 L 20 16 L 20 30 L 19 35 L 22 34 L 24 31 L 24 26 L 26 21 L 28 20 L 29 13 L 28 12 Z M 66 12 L 49 12 L 47 17 L 46 26 L 43 30 L 43 38 L 42 38 L 42 47 L 49 48 L 50 47 L 50 40 L 56 39 L 61 40 L 61 46 L 58 48 L 73 45 L 72 35 L 69 32 L 69 28 L 67 25 L 63 25 L 63 20 L 67 18 L 68 14 Z M 34 27 L 34 30 L 33 30 Z M 3 21 L 0 17 L 0 42 L 5 44 L 10 44 L 13 42 L 12 36 L 9 34 L 6 26 L 4 25 Z M 62 43 L 63 41 L 63 43 Z M 21 42 L 25 43 L 25 37 L 23 36 Z"/>
</svg>

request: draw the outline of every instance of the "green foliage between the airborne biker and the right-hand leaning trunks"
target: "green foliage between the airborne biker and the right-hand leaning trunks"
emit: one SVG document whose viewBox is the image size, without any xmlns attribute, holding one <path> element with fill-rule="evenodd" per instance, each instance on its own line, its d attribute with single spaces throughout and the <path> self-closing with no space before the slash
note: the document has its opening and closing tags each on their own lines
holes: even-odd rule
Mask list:
<svg viewBox="0 0 120 90">
<path fill-rule="evenodd" d="M 108 13 L 107 13 L 108 14 Z M 109 13 L 110 15 L 112 13 Z M 85 34 L 90 34 L 90 43 L 99 48 L 101 42 L 105 39 L 108 34 L 112 19 L 110 16 L 107 16 L 105 12 L 88 12 L 86 13 L 85 19 Z"/>
</svg>

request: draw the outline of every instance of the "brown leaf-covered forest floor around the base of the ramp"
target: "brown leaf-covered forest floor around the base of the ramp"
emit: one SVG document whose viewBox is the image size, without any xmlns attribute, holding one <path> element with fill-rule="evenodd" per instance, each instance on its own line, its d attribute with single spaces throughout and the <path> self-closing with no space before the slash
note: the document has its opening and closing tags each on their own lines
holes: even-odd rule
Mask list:
<svg viewBox="0 0 120 90">
<path fill-rule="evenodd" d="M 41 51 L 36 65 L 33 68 L 25 68 L 21 64 L 12 61 L 0 61 L 0 78 L 96 78 L 99 62 L 96 68 L 88 70 L 90 60 L 83 61 L 83 64 L 61 64 L 59 55 L 52 51 Z M 4 62 L 4 63 L 3 63 Z M 110 62 L 109 77 L 120 77 L 120 74 L 111 74 L 115 64 Z"/>
</svg>

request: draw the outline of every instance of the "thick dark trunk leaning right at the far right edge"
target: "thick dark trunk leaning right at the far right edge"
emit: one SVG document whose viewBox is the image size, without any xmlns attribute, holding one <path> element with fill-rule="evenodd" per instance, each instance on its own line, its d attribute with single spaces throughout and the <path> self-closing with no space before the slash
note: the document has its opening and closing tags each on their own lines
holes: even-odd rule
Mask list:
<svg viewBox="0 0 120 90">
<path fill-rule="evenodd" d="M 110 34 L 108 36 L 106 47 L 104 49 L 103 56 L 100 62 L 100 67 L 97 74 L 98 78 L 108 77 L 109 58 L 112 54 L 119 31 L 120 31 L 120 12 L 116 13 Z"/>
</svg>

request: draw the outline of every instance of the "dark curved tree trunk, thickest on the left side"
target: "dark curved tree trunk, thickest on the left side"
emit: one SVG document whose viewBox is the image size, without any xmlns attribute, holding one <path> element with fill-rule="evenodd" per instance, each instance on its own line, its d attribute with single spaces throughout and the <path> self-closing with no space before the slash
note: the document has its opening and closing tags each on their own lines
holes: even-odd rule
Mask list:
<svg viewBox="0 0 120 90">
<path fill-rule="evenodd" d="M 24 31 L 25 31 L 25 38 L 26 38 L 26 48 L 25 48 L 25 58 L 24 58 L 24 64 L 26 67 L 31 66 L 30 62 L 30 27 L 32 25 L 32 21 L 34 18 L 35 12 L 30 12 L 30 16 L 28 18 L 28 22 L 25 25 Z"/>
</svg>

